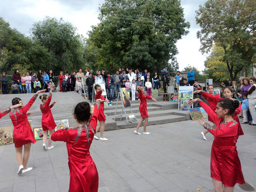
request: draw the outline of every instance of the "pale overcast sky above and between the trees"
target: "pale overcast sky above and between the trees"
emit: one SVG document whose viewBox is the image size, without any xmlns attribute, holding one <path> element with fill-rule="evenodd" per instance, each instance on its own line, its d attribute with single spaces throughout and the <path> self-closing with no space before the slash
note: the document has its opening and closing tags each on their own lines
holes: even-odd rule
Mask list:
<svg viewBox="0 0 256 192">
<path fill-rule="evenodd" d="M 29 35 L 30 28 L 36 21 L 43 20 L 45 16 L 55 17 L 72 23 L 77 32 L 84 37 L 91 30 L 92 25 L 99 23 L 97 19 L 98 7 L 104 0 L 0 0 L 0 17 L 10 23 L 21 33 Z M 206 0 L 181 0 L 186 21 L 190 22 L 189 34 L 182 36 L 176 43 L 179 54 L 177 60 L 179 70 L 186 66 L 195 66 L 198 70 L 204 69 L 206 57 L 198 50 L 200 41 L 196 32 L 200 27 L 195 24 L 195 10 Z"/>
</svg>

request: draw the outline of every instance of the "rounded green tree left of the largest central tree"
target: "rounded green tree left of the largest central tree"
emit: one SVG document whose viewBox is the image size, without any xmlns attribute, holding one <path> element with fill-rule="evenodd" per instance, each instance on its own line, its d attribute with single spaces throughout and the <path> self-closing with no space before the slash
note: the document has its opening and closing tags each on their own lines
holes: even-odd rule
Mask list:
<svg viewBox="0 0 256 192">
<path fill-rule="evenodd" d="M 70 71 L 84 65 L 82 37 L 72 24 L 62 18 L 46 17 L 34 23 L 31 33 L 33 40 L 39 41 L 51 54 L 49 69 Z"/>
</svg>

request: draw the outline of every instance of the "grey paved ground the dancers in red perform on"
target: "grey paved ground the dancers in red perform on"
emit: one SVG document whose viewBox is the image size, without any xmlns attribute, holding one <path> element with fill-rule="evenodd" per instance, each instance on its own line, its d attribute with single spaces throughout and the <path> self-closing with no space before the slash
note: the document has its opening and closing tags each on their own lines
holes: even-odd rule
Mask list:
<svg viewBox="0 0 256 192">
<path fill-rule="evenodd" d="M 202 139 L 196 121 L 148 126 L 150 135 L 135 135 L 134 129 L 108 131 L 108 141 L 94 140 L 91 155 L 99 172 L 99 192 L 212 192 L 210 150 L 213 141 Z M 140 129 L 140 131 L 142 128 Z M 237 143 L 246 185 L 236 192 L 256 189 L 256 126 L 243 126 Z M 0 192 L 67 192 L 67 149 L 55 142 L 43 151 L 42 140 L 31 148 L 31 172 L 16 175 L 14 145 L 0 146 Z"/>
</svg>

